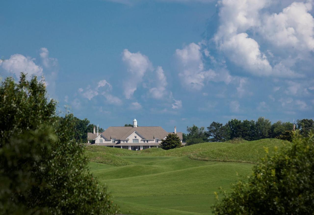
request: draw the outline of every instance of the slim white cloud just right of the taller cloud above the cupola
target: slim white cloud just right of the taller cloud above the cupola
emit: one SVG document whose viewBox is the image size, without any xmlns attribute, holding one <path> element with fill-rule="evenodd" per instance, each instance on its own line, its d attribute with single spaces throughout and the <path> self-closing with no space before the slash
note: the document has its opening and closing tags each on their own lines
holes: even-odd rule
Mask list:
<svg viewBox="0 0 314 215">
<path fill-rule="evenodd" d="M 166 94 L 167 79 L 161 66 L 157 67 L 155 73 L 156 80 L 154 81 L 154 83 L 157 86 L 150 88 L 149 94 L 155 99 L 161 99 L 164 98 Z"/>
</svg>

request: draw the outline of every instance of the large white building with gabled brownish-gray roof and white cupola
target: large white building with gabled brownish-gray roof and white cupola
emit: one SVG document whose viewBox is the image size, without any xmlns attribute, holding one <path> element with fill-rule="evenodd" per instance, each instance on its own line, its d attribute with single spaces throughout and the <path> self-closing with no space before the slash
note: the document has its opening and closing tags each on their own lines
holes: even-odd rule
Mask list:
<svg viewBox="0 0 314 215">
<path fill-rule="evenodd" d="M 118 147 L 129 150 L 143 150 L 151 147 L 158 147 L 161 140 L 168 134 L 177 134 L 182 142 L 182 132 L 167 132 L 160 126 L 138 127 L 136 119 L 133 120 L 133 127 L 109 127 L 104 132 L 88 132 L 87 140 L 89 145 L 100 145 Z"/>
</svg>

